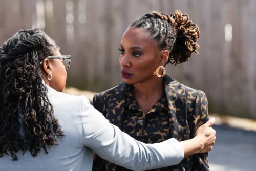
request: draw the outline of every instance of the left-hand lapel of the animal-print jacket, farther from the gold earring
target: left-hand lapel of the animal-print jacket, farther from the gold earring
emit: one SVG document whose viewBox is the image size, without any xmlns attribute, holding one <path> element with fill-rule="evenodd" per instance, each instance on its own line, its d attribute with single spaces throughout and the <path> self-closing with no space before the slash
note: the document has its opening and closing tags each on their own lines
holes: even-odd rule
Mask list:
<svg viewBox="0 0 256 171">
<path fill-rule="evenodd" d="M 109 97 L 106 119 L 121 129 L 122 116 L 127 97 L 127 84 L 122 83 L 114 90 L 115 95 Z"/>
</svg>

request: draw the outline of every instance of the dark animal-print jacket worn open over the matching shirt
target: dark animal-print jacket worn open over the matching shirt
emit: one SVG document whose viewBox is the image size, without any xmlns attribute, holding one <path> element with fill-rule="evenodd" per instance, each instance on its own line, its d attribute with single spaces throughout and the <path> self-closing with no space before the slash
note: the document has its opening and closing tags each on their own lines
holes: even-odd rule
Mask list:
<svg viewBox="0 0 256 171">
<path fill-rule="evenodd" d="M 129 85 L 121 83 L 118 86 L 97 93 L 93 98 L 93 105 L 112 124 L 121 128 L 123 112 Z M 203 91 L 184 86 L 178 81 L 164 77 L 164 91 L 168 101 L 170 134 L 179 141 L 191 139 L 197 128 L 208 121 L 207 97 Z M 98 165 L 102 159 L 97 159 L 94 170 L 101 169 Z M 177 170 L 209 170 L 208 153 L 196 154 L 182 160 L 172 168 Z M 98 168 L 96 168 L 98 167 Z"/>
</svg>

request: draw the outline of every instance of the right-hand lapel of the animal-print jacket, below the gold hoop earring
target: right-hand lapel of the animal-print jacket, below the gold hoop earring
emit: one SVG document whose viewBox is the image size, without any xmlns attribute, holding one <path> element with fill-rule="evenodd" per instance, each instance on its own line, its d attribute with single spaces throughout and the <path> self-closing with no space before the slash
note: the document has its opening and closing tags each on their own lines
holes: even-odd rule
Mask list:
<svg viewBox="0 0 256 171">
<path fill-rule="evenodd" d="M 181 84 L 166 76 L 165 93 L 168 101 L 168 114 L 170 122 L 170 134 L 179 141 L 188 139 L 187 136 L 187 110 L 185 89 Z M 189 130 L 188 130 L 189 131 Z"/>
</svg>

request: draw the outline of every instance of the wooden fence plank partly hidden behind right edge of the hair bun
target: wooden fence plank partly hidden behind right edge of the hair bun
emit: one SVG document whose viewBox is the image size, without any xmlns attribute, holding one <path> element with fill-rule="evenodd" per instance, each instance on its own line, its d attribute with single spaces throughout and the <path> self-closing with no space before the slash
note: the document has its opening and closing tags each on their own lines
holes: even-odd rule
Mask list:
<svg viewBox="0 0 256 171">
<path fill-rule="evenodd" d="M 198 44 L 199 54 L 193 54 L 190 59 L 190 82 L 196 89 L 203 90 L 207 95 L 209 92 L 208 86 L 208 63 L 209 59 L 207 54 L 207 48 L 209 46 L 210 34 L 207 32 L 207 23 L 209 18 L 209 1 L 194 0 L 189 1 L 189 16 L 193 20 L 193 23 L 197 24 L 200 30 L 200 38 Z M 201 10 L 198 10 L 201 9 Z M 195 76 L 198 75 L 198 76 Z"/>
</svg>

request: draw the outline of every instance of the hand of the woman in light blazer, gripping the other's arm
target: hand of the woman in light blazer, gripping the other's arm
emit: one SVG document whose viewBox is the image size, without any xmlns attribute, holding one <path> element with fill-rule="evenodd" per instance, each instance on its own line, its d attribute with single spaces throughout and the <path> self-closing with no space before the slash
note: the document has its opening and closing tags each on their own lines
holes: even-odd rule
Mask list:
<svg viewBox="0 0 256 171">
<path fill-rule="evenodd" d="M 214 123 L 215 118 L 211 118 L 209 121 L 207 121 L 205 124 L 201 125 L 197 129 L 194 139 L 201 146 L 199 153 L 209 152 L 214 147 L 216 140 L 216 131 L 211 127 Z"/>
</svg>

